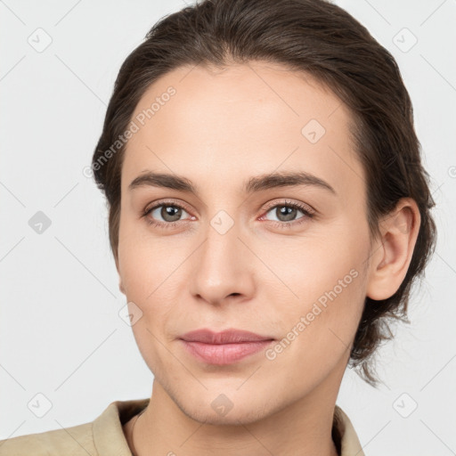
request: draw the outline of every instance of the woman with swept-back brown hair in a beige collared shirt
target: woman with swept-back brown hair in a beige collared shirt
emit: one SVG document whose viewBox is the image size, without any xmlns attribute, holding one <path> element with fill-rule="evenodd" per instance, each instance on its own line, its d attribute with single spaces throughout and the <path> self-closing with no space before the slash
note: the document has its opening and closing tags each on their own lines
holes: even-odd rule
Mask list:
<svg viewBox="0 0 456 456">
<path fill-rule="evenodd" d="M 395 60 L 323 0 L 205 0 L 119 71 L 93 157 L 151 398 L 0 454 L 362 455 L 346 366 L 436 242 Z"/>
</svg>

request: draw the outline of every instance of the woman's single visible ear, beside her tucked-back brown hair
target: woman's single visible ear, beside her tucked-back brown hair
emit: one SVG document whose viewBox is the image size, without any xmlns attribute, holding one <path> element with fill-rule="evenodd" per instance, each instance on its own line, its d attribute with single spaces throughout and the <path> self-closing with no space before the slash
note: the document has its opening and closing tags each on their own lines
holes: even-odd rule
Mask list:
<svg viewBox="0 0 456 456">
<path fill-rule="evenodd" d="M 387 299 L 401 286 L 409 269 L 421 216 L 414 199 L 400 199 L 379 222 L 381 239 L 372 245 L 366 296 Z"/>
</svg>

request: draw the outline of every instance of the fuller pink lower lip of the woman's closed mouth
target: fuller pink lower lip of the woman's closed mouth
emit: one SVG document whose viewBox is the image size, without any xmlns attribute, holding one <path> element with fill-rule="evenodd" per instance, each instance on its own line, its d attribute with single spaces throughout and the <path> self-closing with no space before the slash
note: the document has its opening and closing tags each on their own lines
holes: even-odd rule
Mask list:
<svg viewBox="0 0 456 456">
<path fill-rule="evenodd" d="M 181 339 L 182 340 L 182 339 Z M 256 354 L 273 343 L 273 340 L 258 340 L 240 344 L 204 344 L 182 340 L 183 346 L 199 361 L 223 366 Z"/>
</svg>

